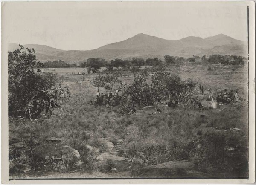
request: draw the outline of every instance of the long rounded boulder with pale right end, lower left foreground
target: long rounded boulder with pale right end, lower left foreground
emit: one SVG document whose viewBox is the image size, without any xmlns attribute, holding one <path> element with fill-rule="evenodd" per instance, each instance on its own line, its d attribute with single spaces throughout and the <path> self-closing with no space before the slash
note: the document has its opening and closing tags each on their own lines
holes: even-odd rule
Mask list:
<svg viewBox="0 0 256 185">
<path fill-rule="evenodd" d="M 79 152 L 67 145 L 41 145 L 32 150 L 38 161 L 79 158 Z M 48 157 L 49 156 L 49 157 Z"/>
</svg>

